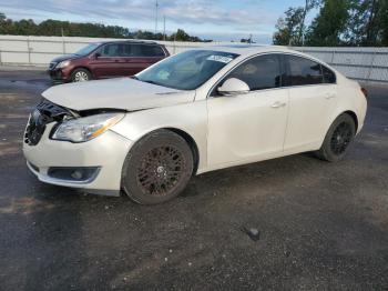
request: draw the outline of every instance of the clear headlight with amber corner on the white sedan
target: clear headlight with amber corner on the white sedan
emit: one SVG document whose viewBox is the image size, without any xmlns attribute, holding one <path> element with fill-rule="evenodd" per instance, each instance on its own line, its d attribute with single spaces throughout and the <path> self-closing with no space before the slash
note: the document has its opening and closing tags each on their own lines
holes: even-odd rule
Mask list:
<svg viewBox="0 0 388 291">
<path fill-rule="evenodd" d="M 72 142 L 89 141 L 104 133 L 123 117 L 124 113 L 103 113 L 63 121 L 51 138 Z"/>
</svg>

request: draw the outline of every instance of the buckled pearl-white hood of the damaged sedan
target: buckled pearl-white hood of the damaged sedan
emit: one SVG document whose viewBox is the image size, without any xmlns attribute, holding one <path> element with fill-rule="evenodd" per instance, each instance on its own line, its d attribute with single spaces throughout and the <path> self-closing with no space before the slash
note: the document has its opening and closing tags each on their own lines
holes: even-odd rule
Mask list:
<svg viewBox="0 0 388 291">
<path fill-rule="evenodd" d="M 51 87 L 42 96 L 75 110 L 124 109 L 127 111 L 193 102 L 195 91 L 182 91 L 131 78 L 88 81 Z"/>
</svg>

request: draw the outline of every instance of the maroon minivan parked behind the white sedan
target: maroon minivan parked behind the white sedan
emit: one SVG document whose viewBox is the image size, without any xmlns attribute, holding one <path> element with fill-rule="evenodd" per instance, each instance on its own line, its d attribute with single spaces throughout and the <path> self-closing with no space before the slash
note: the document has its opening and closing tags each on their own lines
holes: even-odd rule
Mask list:
<svg viewBox="0 0 388 291">
<path fill-rule="evenodd" d="M 133 76 L 169 56 L 166 48 L 155 42 L 90 43 L 74 54 L 53 59 L 49 74 L 51 79 L 64 82 Z"/>
</svg>

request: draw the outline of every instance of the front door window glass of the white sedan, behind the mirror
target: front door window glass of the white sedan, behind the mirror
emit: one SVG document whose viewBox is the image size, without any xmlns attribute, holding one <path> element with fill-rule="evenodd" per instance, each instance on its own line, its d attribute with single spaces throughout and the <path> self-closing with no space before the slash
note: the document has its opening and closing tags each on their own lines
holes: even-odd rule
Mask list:
<svg viewBox="0 0 388 291">
<path fill-rule="evenodd" d="M 278 88 L 282 81 L 279 59 L 275 54 L 255 57 L 232 71 L 228 78 L 246 82 L 251 91 Z"/>
</svg>

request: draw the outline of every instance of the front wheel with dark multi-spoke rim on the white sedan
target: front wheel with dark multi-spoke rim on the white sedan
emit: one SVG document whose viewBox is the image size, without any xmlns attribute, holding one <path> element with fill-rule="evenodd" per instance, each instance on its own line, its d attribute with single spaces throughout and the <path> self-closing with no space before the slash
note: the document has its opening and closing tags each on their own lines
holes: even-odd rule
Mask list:
<svg viewBox="0 0 388 291">
<path fill-rule="evenodd" d="M 187 142 L 169 130 L 154 131 L 137 141 L 125 158 L 122 188 L 140 204 L 157 204 L 178 195 L 194 168 Z"/>
</svg>

